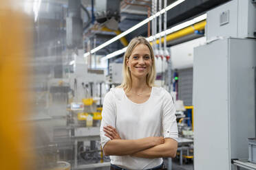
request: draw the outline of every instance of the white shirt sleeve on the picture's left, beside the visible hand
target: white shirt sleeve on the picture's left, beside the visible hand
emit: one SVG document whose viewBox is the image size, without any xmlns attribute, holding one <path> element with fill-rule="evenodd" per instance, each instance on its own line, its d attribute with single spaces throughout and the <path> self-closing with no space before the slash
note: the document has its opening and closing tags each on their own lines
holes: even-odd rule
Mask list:
<svg viewBox="0 0 256 170">
<path fill-rule="evenodd" d="M 103 101 L 102 120 L 100 123 L 100 144 L 102 147 L 111 140 L 109 137 L 105 136 L 105 132 L 103 131 L 103 127 L 107 125 L 116 127 L 116 106 L 114 94 L 111 90 L 105 95 Z"/>
</svg>

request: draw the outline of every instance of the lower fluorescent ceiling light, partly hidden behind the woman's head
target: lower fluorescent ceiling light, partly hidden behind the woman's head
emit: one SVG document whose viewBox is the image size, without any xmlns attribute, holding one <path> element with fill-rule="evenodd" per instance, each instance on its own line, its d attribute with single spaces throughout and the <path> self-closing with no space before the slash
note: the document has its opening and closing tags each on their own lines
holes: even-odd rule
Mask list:
<svg viewBox="0 0 256 170">
<path fill-rule="evenodd" d="M 185 27 L 189 27 L 190 25 L 193 25 L 195 23 L 198 23 L 200 21 L 203 21 L 204 19 L 206 19 L 207 15 L 206 14 L 202 14 L 198 17 L 196 17 L 195 19 L 191 19 L 190 21 L 186 21 L 184 23 L 181 23 L 179 25 L 176 25 L 174 27 L 171 27 L 169 29 L 167 29 L 166 31 L 163 31 L 163 32 L 160 32 L 158 34 L 156 34 L 155 36 L 149 36 L 148 38 L 146 38 L 149 42 L 153 41 L 154 40 L 154 37 L 155 38 L 160 38 L 160 36 L 164 36 L 164 32 L 168 35 L 168 34 L 171 34 L 173 32 L 177 32 L 178 30 L 180 29 L 183 29 Z M 109 58 L 114 58 L 115 56 L 118 56 L 120 55 L 121 53 L 125 53 L 127 47 L 123 48 L 123 49 L 120 49 L 118 51 L 114 51 L 113 53 L 109 53 L 107 56 L 105 56 L 104 58 L 101 58 L 101 60 L 107 60 Z"/>
</svg>

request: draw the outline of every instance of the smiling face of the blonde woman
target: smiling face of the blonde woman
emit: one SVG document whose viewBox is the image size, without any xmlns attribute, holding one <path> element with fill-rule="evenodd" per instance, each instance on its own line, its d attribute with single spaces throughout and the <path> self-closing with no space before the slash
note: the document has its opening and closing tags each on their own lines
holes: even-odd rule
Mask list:
<svg viewBox="0 0 256 170">
<path fill-rule="evenodd" d="M 152 65 L 150 50 L 147 45 L 139 44 L 131 52 L 127 60 L 127 66 L 131 71 L 131 77 L 143 78 L 149 73 Z"/>
</svg>

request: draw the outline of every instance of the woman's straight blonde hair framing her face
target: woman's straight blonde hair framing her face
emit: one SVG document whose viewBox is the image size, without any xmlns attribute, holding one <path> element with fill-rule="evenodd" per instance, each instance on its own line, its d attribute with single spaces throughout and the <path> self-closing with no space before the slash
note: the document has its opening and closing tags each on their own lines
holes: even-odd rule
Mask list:
<svg viewBox="0 0 256 170">
<path fill-rule="evenodd" d="M 155 86 L 154 83 L 156 80 L 156 65 L 155 65 L 153 49 L 149 44 L 149 42 L 146 40 L 146 38 L 139 36 L 132 39 L 131 42 L 129 42 L 129 45 L 127 46 L 127 50 L 125 51 L 124 61 L 122 62 L 122 84 L 118 87 L 124 88 L 125 91 L 131 90 L 131 82 L 132 82 L 131 71 L 129 71 L 126 61 L 129 60 L 129 57 L 131 56 L 132 51 L 134 51 L 134 48 L 140 44 L 147 45 L 147 47 L 149 47 L 150 57 L 152 60 L 151 68 L 146 78 L 147 86 Z"/>
</svg>

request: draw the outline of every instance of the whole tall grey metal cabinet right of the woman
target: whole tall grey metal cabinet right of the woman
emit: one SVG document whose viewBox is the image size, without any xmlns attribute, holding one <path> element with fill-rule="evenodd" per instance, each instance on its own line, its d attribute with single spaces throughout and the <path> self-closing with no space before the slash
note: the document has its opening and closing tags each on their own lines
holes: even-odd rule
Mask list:
<svg viewBox="0 0 256 170">
<path fill-rule="evenodd" d="M 196 47 L 193 64 L 194 166 L 233 169 L 255 136 L 256 40 L 226 38 Z"/>
</svg>

